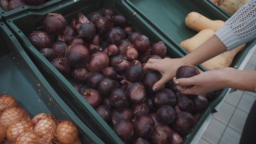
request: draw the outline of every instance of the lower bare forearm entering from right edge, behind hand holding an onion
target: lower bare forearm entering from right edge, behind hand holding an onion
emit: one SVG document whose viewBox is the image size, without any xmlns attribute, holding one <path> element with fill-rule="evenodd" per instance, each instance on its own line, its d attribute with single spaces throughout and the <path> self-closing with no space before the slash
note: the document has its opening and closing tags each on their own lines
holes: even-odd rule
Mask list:
<svg viewBox="0 0 256 144">
<path fill-rule="evenodd" d="M 253 70 L 223 70 L 223 81 L 226 88 L 255 92 L 256 71 Z"/>
</svg>

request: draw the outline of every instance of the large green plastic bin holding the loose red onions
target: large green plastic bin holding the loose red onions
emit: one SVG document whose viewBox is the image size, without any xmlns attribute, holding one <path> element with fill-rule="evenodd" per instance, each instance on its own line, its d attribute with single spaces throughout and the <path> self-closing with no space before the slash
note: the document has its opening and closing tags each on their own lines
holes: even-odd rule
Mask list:
<svg viewBox="0 0 256 144">
<path fill-rule="evenodd" d="M 66 2 L 61 6 L 49 6 L 44 11 L 40 12 L 26 12 L 18 16 L 14 16 L 6 20 L 10 29 L 14 32 L 18 40 L 24 46 L 24 50 L 28 53 L 33 62 L 43 72 L 51 86 L 57 93 L 63 94 L 61 97 L 66 104 L 74 111 L 74 113 L 99 136 L 104 142 L 109 144 L 123 143 L 120 138 L 114 133 L 112 128 L 98 115 L 98 113 L 82 98 L 82 96 L 71 85 L 72 81 L 64 78 L 62 74 L 46 60 L 28 41 L 27 36 L 34 30 L 43 30 L 43 20 L 48 13 L 60 13 L 64 16 L 70 24 L 73 18 L 78 18 L 78 12 L 82 12 L 87 16 L 90 12 L 101 12 L 102 8 L 113 8 L 117 14 L 124 15 L 132 24 L 135 30 L 146 35 L 151 44 L 163 41 L 168 48 L 168 56 L 171 58 L 181 58 L 184 56 L 182 52 L 176 49 L 166 38 L 164 38 L 157 29 L 153 28 L 142 18 L 140 14 L 134 14 L 134 10 L 124 2 L 124 0 L 76 0 Z M 84 88 L 87 88 L 86 85 Z M 210 102 L 209 107 L 202 113 L 202 117 L 198 121 L 196 128 L 189 134 L 184 134 L 182 137 L 183 144 L 189 144 L 206 118 L 218 105 L 222 98 L 227 93 L 228 89 L 221 91 L 218 98 Z"/>
</svg>

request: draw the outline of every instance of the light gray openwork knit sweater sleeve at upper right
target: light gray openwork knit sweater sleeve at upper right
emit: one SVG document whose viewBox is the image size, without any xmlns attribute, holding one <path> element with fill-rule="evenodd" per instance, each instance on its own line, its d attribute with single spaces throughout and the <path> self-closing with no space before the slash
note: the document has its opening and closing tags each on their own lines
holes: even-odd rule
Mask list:
<svg viewBox="0 0 256 144">
<path fill-rule="evenodd" d="M 215 35 L 230 51 L 256 38 L 256 0 L 242 6 Z"/>
</svg>

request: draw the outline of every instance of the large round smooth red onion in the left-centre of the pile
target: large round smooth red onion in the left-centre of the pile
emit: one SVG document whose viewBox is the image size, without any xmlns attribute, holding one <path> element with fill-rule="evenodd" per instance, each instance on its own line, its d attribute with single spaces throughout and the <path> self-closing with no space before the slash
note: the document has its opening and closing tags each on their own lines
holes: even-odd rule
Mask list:
<svg viewBox="0 0 256 144">
<path fill-rule="evenodd" d="M 90 58 L 90 52 L 82 44 L 71 45 L 67 50 L 68 64 L 74 68 L 84 66 Z"/>
</svg>

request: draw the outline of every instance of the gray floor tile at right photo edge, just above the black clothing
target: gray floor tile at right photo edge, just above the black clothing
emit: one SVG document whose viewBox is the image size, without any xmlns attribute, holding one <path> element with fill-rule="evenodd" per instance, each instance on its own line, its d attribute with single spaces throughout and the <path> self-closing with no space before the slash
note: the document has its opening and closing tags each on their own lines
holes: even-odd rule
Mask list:
<svg viewBox="0 0 256 144">
<path fill-rule="evenodd" d="M 256 97 L 248 94 L 248 93 L 244 93 L 237 108 L 240 108 L 241 110 L 243 110 L 244 112 L 249 113 L 252 104 L 254 103 Z"/>
</svg>

